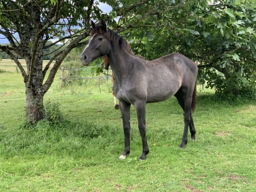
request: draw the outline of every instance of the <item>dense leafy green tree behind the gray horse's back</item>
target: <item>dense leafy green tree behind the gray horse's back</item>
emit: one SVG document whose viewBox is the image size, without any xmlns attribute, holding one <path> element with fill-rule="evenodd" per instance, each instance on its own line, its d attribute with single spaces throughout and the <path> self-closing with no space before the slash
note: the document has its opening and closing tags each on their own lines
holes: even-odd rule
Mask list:
<svg viewBox="0 0 256 192">
<path fill-rule="evenodd" d="M 225 97 L 255 98 L 255 8 L 255 0 L 148 2 L 140 10 L 146 15 L 140 20 L 144 27 L 124 35 L 135 53 L 148 59 L 178 52 L 197 61 L 198 80 Z M 138 18 L 126 17 L 123 23 Z"/>
</svg>

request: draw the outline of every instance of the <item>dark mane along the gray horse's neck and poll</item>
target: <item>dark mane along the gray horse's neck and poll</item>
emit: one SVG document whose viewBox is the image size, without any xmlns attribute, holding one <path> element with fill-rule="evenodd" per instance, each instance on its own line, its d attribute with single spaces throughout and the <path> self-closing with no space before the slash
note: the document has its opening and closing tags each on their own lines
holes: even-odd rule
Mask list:
<svg viewBox="0 0 256 192">
<path fill-rule="evenodd" d="M 120 37 L 115 31 L 112 31 L 110 28 L 105 31 L 105 28 L 103 26 L 96 26 L 91 31 L 91 36 L 93 36 L 94 34 L 105 35 L 112 44 L 118 44 L 120 45 L 121 49 L 125 49 L 129 53 L 134 55 L 131 47 L 129 46 L 129 43 L 123 37 Z"/>
</svg>

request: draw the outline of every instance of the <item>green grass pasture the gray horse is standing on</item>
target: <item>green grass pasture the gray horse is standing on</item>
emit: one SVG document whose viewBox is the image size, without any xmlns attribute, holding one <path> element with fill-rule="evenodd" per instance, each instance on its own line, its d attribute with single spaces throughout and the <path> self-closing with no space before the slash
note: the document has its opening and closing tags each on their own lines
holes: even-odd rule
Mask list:
<svg viewBox="0 0 256 192">
<path fill-rule="evenodd" d="M 124 149 L 121 113 L 112 84 L 59 88 L 45 104 L 60 104 L 61 123 L 26 120 L 23 78 L 0 62 L 0 191 L 255 191 L 256 102 L 220 101 L 197 85 L 193 114 L 197 140 L 179 147 L 183 112 L 176 99 L 146 105 L 150 153 L 138 161 L 141 140 L 131 107 L 131 153 Z"/>
</svg>

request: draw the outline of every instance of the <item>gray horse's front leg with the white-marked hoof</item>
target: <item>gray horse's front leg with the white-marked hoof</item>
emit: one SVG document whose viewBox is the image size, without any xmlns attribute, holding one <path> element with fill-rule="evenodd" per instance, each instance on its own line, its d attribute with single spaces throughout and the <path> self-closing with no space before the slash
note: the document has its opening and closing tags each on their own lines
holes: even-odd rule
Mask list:
<svg viewBox="0 0 256 192">
<path fill-rule="evenodd" d="M 131 104 L 125 102 L 125 101 L 120 101 L 120 110 L 121 110 L 121 115 L 123 119 L 123 128 L 124 128 L 124 152 L 121 154 L 119 157 L 120 159 L 124 159 L 129 155 L 130 151 L 130 142 L 129 142 L 129 134 L 130 134 L 130 108 Z"/>
</svg>

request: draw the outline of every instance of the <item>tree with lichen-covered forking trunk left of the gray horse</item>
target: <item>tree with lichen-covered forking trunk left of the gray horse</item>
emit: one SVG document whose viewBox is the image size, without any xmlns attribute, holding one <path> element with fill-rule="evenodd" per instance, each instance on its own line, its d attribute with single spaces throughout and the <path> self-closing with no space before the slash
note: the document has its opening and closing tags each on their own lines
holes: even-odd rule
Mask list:
<svg viewBox="0 0 256 192">
<path fill-rule="evenodd" d="M 108 1 L 110 5 L 117 1 Z M 125 9 L 129 12 L 140 3 L 130 1 Z M 119 2 L 121 4 L 121 1 Z M 64 0 L 7 0 L 0 2 L 0 34 L 10 45 L 0 45 L 0 50 L 10 55 L 17 64 L 26 88 L 26 118 L 34 122 L 43 118 L 43 98 L 52 85 L 61 62 L 75 47 L 82 47 L 90 34 L 90 20 L 108 20 L 108 25 L 116 26 L 113 15 L 99 9 L 99 2 Z M 48 42 L 51 41 L 49 44 Z M 54 41 L 53 41 L 54 40 Z M 61 42 L 62 45 L 56 47 Z M 55 46 L 55 47 L 54 47 Z M 53 56 L 43 68 L 44 50 L 52 50 Z M 59 51 L 58 51 L 59 50 Z M 47 53 L 48 51 L 45 51 Z M 17 56 L 26 60 L 25 70 Z M 50 69 L 50 66 L 51 69 Z M 48 70 L 50 72 L 47 75 Z"/>
</svg>

